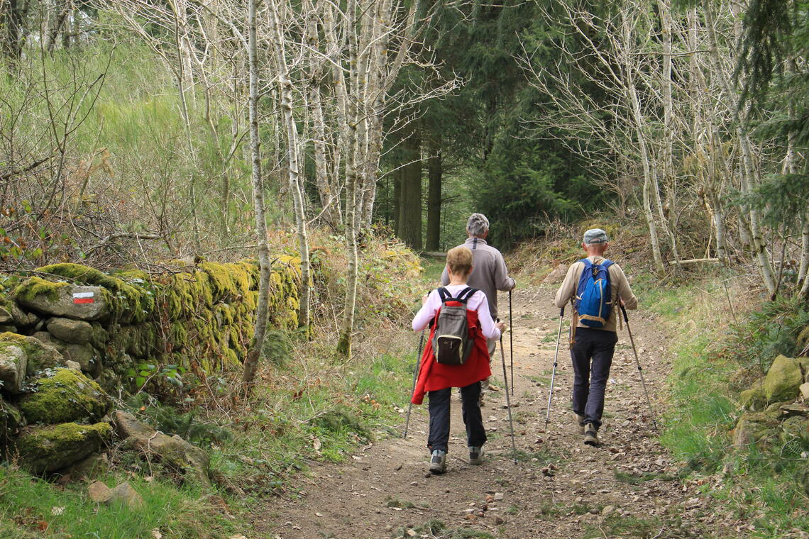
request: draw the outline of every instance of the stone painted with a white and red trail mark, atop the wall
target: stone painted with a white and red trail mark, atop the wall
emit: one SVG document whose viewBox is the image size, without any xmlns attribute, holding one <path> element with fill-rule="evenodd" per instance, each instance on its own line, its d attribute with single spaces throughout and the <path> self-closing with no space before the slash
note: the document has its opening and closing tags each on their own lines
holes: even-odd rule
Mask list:
<svg viewBox="0 0 809 539">
<path fill-rule="evenodd" d="M 39 313 L 91 321 L 109 317 L 105 292 L 99 286 L 51 283 L 32 277 L 20 284 L 15 298 L 19 305 Z"/>
</svg>

